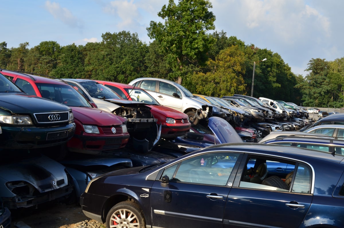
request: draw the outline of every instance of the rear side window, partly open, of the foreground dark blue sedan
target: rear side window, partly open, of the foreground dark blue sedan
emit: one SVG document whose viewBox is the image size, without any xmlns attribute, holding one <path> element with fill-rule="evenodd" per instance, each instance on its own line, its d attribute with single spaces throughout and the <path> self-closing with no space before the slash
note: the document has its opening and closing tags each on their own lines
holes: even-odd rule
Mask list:
<svg viewBox="0 0 344 228">
<path fill-rule="evenodd" d="M 294 161 L 270 157 L 249 157 L 239 187 L 310 193 L 311 170 L 307 165 Z"/>
</svg>

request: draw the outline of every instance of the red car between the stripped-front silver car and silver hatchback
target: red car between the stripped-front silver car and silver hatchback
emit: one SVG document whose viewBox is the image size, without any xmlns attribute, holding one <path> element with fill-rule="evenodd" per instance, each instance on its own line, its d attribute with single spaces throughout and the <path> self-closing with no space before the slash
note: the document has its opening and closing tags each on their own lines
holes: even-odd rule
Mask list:
<svg viewBox="0 0 344 228">
<path fill-rule="evenodd" d="M 158 119 L 157 124 L 161 124 L 161 138 L 176 138 L 190 131 L 191 123 L 185 113 L 160 105 L 149 93 L 139 87 L 117 82 L 94 81 L 107 86 L 123 99 L 146 103 L 151 108 L 154 118 Z"/>
</svg>

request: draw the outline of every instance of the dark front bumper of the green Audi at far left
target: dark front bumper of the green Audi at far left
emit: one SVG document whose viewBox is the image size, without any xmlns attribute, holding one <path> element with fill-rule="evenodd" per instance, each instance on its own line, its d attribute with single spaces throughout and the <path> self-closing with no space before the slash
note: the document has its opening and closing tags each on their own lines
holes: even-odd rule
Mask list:
<svg viewBox="0 0 344 228">
<path fill-rule="evenodd" d="M 57 127 L 1 126 L 1 148 L 29 149 L 66 143 L 75 132 L 75 123 Z"/>
</svg>

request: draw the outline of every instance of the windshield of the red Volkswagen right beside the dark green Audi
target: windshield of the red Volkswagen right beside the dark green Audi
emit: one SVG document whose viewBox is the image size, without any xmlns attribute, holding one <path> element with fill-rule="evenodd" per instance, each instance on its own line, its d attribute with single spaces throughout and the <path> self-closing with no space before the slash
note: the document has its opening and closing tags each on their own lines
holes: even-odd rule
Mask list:
<svg viewBox="0 0 344 228">
<path fill-rule="evenodd" d="M 71 107 L 92 107 L 86 98 L 69 85 L 36 83 L 42 97 Z"/>
</svg>

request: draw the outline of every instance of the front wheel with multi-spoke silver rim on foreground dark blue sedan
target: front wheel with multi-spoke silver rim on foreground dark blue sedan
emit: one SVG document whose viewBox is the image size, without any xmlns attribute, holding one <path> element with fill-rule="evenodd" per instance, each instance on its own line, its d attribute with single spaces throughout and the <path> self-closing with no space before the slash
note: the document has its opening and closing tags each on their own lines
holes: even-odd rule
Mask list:
<svg viewBox="0 0 344 228">
<path fill-rule="evenodd" d="M 113 206 L 106 216 L 106 227 L 114 227 L 114 225 L 115 227 L 146 227 L 146 221 L 139 205 L 131 201 L 123 201 Z"/>
</svg>

